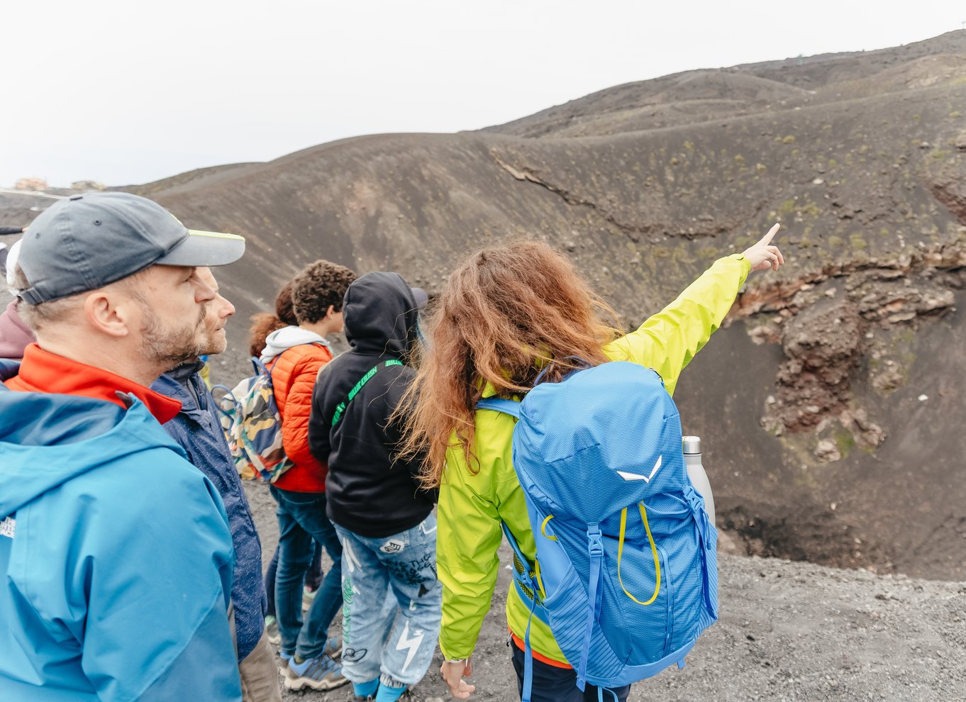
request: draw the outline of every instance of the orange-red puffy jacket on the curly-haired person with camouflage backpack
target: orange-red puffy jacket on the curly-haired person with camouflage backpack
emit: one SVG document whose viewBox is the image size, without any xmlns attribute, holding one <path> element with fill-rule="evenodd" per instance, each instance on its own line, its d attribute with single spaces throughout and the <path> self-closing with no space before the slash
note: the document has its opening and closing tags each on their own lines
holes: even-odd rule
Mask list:
<svg viewBox="0 0 966 702">
<path fill-rule="evenodd" d="M 299 344 L 282 351 L 268 364 L 282 418 L 282 446 L 293 463 L 274 483 L 280 490 L 326 491 L 327 465 L 319 463 L 308 449 L 308 416 L 315 377 L 330 360 L 332 352 L 322 344 Z"/>
</svg>

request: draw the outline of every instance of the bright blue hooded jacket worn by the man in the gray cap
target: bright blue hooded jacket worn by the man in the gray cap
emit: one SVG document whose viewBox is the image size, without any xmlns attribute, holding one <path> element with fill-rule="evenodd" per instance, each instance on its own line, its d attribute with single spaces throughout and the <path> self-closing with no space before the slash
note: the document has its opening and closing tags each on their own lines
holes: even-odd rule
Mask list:
<svg viewBox="0 0 966 702">
<path fill-rule="evenodd" d="M 224 508 L 139 400 L 0 382 L 0 574 L 0 699 L 241 699 Z"/>
</svg>

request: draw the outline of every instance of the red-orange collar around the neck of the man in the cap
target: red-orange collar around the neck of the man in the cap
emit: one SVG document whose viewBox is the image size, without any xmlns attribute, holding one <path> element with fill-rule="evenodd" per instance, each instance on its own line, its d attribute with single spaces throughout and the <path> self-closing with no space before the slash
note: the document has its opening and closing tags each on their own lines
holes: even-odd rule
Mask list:
<svg viewBox="0 0 966 702">
<path fill-rule="evenodd" d="M 23 351 L 19 372 L 5 384 L 11 390 L 80 395 L 106 400 L 120 407 L 127 405 L 117 393 L 129 393 L 143 402 L 161 424 L 173 419 L 181 410 L 180 402 L 151 388 L 103 368 L 43 351 L 37 344 L 31 344 Z"/>
</svg>

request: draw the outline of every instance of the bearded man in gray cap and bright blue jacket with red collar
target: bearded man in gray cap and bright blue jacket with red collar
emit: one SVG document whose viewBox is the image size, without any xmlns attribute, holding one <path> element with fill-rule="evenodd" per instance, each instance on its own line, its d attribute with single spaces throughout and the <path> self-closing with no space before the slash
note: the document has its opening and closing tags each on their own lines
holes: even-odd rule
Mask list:
<svg viewBox="0 0 966 702">
<path fill-rule="evenodd" d="M 225 511 L 147 386 L 205 341 L 197 268 L 243 252 L 128 193 L 28 227 L 37 343 L 0 362 L 0 699 L 241 699 Z"/>
</svg>

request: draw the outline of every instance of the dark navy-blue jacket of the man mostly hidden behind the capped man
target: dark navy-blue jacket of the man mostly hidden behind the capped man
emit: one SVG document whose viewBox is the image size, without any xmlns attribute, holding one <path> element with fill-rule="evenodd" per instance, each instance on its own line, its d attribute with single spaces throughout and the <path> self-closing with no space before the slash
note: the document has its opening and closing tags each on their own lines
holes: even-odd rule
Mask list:
<svg viewBox="0 0 966 702">
<path fill-rule="evenodd" d="M 162 425 L 164 431 L 185 449 L 187 460 L 212 481 L 228 513 L 235 546 L 235 637 L 239 660 L 244 660 L 265 632 L 268 600 L 262 579 L 262 543 L 212 393 L 198 373 L 202 365 L 198 362 L 176 368 L 156 379 L 151 389 L 181 402 L 182 410 Z"/>
</svg>

